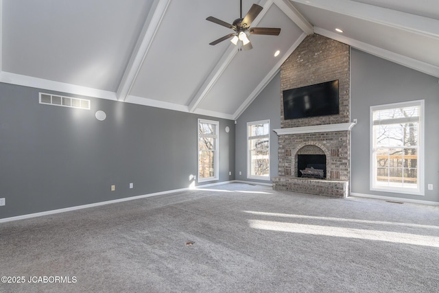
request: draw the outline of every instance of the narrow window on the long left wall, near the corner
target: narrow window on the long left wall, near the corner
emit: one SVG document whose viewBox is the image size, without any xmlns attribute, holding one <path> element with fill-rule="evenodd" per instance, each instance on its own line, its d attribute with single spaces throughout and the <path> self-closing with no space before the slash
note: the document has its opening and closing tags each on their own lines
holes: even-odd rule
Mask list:
<svg viewBox="0 0 439 293">
<path fill-rule="evenodd" d="M 198 119 L 198 182 L 218 179 L 218 126 Z"/>
</svg>

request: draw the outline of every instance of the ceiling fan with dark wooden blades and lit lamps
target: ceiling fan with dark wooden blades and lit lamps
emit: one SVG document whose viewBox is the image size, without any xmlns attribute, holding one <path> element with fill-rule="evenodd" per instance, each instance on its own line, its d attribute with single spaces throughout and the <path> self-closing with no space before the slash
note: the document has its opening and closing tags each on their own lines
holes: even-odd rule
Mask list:
<svg viewBox="0 0 439 293">
<path fill-rule="evenodd" d="M 218 38 L 217 40 L 214 40 L 209 45 L 217 45 L 217 43 L 222 42 L 223 40 L 227 40 L 228 38 L 232 38 L 230 42 L 237 45 L 239 49 L 241 47 L 244 47 L 244 50 L 250 50 L 252 49 L 252 43 L 250 43 L 250 40 L 248 39 L 249 34 L 265 34 L 270 36 L 278 36 L 278 34 L 281 33 L 280 28 L 274 28 L 274 27 L 250 27 L 252 24 L 252 21 L 257 18 L 259 13 L 262 11 L 262 7 L 253 4 L 250 10 L 248 10 L 246 16 L 244 18 L 242 17 L 242 0 L 241 0 L 241 17 L 239 19 L 235 19 L 233 21 L 233 24 L 230 25 L 230 23 L 226 23 L 225 21 L 216 19 L 213 16 L 209 16 L 206 21 L 211 21 L 213 23 L 216 23 L 217 25 L 222 25 L 224 27 L 228 27 L 235 32 L 228 34 L 226 36 L 223 36 L 222 38 Z"/>
</svg>

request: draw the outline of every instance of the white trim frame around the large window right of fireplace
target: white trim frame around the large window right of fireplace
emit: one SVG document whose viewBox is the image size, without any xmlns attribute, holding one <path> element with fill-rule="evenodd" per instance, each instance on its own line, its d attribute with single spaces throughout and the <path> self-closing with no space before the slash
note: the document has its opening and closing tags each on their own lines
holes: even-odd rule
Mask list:
<svg viewBox="0 0 439 293">
<path fill-rule="evenodd" d="M 424 143 L 424 132 L 425 132 L 425 108 L 424 108 L 424 99 L 419 99 L 416 101 L 410 102 L 401 102 L 401 103 L 393 103 L 393 104 L 384 104 L 377 106 L 370 106 L 370 190 L 372 191 L 383 191 L 390 192 L 396 194 L 412 194 L 415 196 L 424 196 L 425 195 L 425 176 L 424 176 L 424 156 L 425 156 L 425 143 Z M 376 177 L 376 168 L 375 168 L 375 154 L 374 154 L 374 121 L 373 121 L 373 111 L 375 110 L 385 110 L 385 109 L 393 109 L 393 108 L 403 108 L 405 106 L 420 106 L 419 111 L 419 138 L 418 138 L 418 180 L 419 180 L 419 188 L 414 191 L 410 189 L 404 189 L 401 187 L 374 187 L 375 177 Z"/>
</svg>

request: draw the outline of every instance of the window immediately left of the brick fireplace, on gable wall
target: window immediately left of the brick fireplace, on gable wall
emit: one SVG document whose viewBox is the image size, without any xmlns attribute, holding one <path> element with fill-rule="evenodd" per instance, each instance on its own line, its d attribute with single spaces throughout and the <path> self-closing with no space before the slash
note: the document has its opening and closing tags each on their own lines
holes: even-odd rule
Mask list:
<svg viewBox="0 0 439 293">
<path fill-rule="evenodd" d="M 270 180 L 270 120 L 247 123 L 247 178 Z"/>
</svg>

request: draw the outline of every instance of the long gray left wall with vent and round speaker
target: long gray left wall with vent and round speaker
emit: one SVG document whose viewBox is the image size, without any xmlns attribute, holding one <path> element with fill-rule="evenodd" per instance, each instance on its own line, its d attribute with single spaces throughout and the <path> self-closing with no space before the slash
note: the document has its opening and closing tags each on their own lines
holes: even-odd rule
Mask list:
<svg viewBox="0 0 439 293">
<path fill-rule="evenodd" d="M 219 121 L 219 180 L 209 183 L 235 179 L 234 121 L 93 97 L 91 110 L 42 105 L 39 91 L 0 83 L 0 218 L 189 187 L 198 118 Z"/>
</svg>

